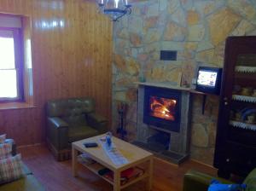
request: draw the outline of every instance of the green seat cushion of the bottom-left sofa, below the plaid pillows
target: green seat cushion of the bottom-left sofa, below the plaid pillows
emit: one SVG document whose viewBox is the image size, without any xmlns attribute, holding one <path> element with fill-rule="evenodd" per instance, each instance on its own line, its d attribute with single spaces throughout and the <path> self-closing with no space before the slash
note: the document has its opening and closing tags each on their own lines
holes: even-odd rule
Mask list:
<svg viewBox="0 0 256 191">
<path fill-rule="evenodd" d="M 43 191 L 44 187 L 38 182 L 33 175 L 27 175 L 15 182 L 5 183 L 0 186 L 1 191 Z"/>
</svg>

